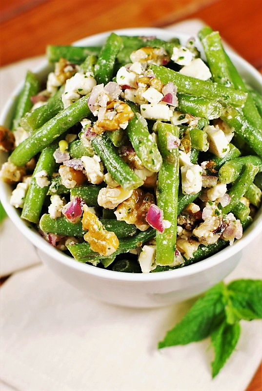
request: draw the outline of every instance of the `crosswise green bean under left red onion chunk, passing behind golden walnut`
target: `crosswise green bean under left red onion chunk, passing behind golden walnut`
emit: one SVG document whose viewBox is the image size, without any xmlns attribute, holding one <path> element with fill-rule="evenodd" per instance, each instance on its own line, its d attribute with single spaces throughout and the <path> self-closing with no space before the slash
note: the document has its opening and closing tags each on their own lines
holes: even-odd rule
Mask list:
<svg viewBox="0 0 262 391">
<path fill-rule="evenodd" d="M 107 231 L 114 232 L 118 238 L 133 236 L 137 232 L 135 225 L 127 224 L 125 221 L 110 219 L 101 219 L 100 221 Z M 47 234 L 82 237 L 87 232 L 83 230 L 81 221 L 72 223 L 64 216 L 52 218 L 50 215 L 44 214 L 40 218 L 39 225 L 40 229 Z"/>
</svg>

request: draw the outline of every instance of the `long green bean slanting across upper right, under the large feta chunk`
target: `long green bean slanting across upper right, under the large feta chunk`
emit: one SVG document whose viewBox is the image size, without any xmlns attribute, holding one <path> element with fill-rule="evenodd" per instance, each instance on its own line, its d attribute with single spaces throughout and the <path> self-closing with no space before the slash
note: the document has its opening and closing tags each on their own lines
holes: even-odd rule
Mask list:
<svg viewBox="0 0 262 391">
<path fill-rule="evenodd" d="M 185 94 L 192 94 L 207 99 L 215 99 L 236 107 L 241 107 L 247 97 L 246 92 L 231 87 L 225 87 L 217 83 L 196 79 L 191 76 L 185 76 L 161 65 L 150 65 L 150 68 L 163 84 L 173 82 L 178 87 L 178 92 L 184 92 Z"/>
</svg>

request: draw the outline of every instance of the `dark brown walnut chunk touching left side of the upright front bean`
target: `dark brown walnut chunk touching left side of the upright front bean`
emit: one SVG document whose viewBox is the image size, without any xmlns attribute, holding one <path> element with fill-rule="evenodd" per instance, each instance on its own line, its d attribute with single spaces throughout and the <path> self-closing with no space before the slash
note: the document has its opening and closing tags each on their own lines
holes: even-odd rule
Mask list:
<svg viewBox="0 0 262 391">
<path fill-rule="evenodd" d="M 154 203 L 154 195 L 136 189 L 128 199 L 121 202 L 114 213 L 118 220 L 124 220 L 127 224 L 135 224 L 138 229 L 145 231 L 149 228 L 145 217 L 150 205 Z"/>
</svg>

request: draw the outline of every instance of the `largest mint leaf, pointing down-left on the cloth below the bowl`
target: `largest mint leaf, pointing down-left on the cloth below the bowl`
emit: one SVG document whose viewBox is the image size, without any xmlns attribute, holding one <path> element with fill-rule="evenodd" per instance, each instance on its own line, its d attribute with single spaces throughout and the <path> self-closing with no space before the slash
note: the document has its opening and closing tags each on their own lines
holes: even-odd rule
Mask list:
<svg viewBox="0 0 262 391">
<path fill-rule="evenodd" d="M 210 335 L 213 328 L 224 317 L 222 296 L 224 288 L 224 284 L 220 282 L 198 299 L 181 322 L 166 333 L 163 341 L 159 343 L 159 348 L 186 345 L 201 341 Z"/>
</svg>

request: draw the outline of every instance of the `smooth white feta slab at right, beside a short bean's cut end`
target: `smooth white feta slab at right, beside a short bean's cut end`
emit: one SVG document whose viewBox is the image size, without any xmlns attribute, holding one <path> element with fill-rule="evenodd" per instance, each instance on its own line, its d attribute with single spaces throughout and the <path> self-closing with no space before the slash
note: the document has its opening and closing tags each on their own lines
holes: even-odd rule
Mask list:
<svg viewBox="0 0 262 391">
<path fill-rule="evenodd" d="M 209 151 L 218 157 L 223 157 L 229 152 L 229 143 L 221 129 L 215 128 L 213 125 L 204 127 L 209 140 Z"/>
</svg>

